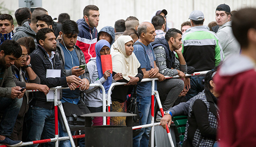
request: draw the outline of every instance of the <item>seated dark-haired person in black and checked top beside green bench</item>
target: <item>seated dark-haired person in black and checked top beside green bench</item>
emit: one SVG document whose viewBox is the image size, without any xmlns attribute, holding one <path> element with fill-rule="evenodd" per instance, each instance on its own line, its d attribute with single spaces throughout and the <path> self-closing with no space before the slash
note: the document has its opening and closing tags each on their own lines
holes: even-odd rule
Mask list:
<svg viewBox="0 0 256 147">
<path fill-rule="evenodd" d="M 213 76 L 209 71 L 204 78 L 204 91 L 190 103 L 183 147 L 213 147 L 219 118 L 217 111 L 218 94 L 214 91 Z"/>
</svg>

